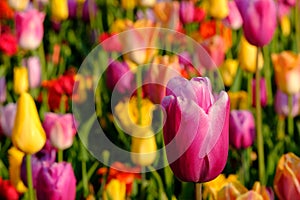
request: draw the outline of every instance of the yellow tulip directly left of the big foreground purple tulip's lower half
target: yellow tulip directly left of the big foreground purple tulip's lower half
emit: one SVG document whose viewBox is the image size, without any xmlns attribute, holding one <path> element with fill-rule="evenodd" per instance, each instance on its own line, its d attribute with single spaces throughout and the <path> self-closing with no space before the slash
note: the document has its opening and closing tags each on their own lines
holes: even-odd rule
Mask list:
<svg viewBox="0 0 300 200">
<path fill-rule="evenodd" d="M 136 135 L 141 135 L 141 133 Z M 155 135 L 151 130 L 140 137 L 131 138 L 131 160 L 136 165 L 151 165 L 156 158 L 156 150 Z"/>
</svg>

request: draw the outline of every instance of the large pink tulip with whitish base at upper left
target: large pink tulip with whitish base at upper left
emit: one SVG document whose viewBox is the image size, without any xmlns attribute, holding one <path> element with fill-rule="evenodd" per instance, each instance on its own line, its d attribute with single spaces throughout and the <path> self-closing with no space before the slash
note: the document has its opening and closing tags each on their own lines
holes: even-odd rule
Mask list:
<svg viewBox="0 0 300 200">
<path fill-rule="evenodd" d="M 45 14 L 35 9 L 16 13 L 17 40 L 21 48 L 34 50 L 41 44 L 44 19 Z"/>
</svg>

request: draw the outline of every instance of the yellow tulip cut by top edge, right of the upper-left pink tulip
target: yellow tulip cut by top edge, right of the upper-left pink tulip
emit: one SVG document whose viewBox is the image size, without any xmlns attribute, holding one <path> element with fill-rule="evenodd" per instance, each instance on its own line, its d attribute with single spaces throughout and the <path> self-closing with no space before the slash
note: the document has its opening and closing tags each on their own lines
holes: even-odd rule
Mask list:
<svg viewBox="0 0 300 200">
<path fill-rule="evenodd" d="M 66 20 L 69 16 L 67 0 L 51 1 L 51 17 L 55 21 Z"/>
</svg>

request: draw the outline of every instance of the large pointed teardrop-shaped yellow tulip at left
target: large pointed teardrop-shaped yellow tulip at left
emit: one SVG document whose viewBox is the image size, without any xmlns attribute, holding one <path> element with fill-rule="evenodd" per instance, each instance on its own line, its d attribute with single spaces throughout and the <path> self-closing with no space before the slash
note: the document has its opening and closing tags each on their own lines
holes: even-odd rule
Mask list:
<svg viewBox="0 0 300 200">
<path fill-rule="evenodd" d="M 17 103 L 12 142 L 16 148 L 26 154 L 40 151 L 46 143 L 46 134 L 34 100 L 30 94 L 25 92 L 20 95 Z"/>
</svg>

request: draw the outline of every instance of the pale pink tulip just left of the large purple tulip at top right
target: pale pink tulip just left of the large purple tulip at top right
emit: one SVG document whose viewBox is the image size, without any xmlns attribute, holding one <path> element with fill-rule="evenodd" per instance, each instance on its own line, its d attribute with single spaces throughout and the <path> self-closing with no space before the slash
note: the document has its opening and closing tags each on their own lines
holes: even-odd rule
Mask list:
<svg viewBox="0 0 300 200">
<path fill-rule="evenodd" d="M 229 14 L 223 20 L 224 24 L 236 30 L 239 29 L 243 25 L 243 18 L 235 1 L 228 2 Z"/>
</svg>

